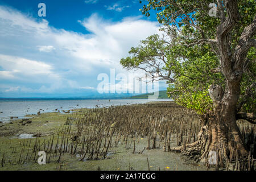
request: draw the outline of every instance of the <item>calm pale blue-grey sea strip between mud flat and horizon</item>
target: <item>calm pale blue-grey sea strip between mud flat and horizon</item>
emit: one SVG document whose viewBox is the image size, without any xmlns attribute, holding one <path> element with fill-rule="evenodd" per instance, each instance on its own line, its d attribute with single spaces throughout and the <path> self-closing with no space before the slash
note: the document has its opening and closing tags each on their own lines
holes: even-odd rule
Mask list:
<svg viewBox="0 0 256 182">
<path fill-rule="evenodd" d="M 80 108 L 108 107 L 117 105 L 145 104 L 153 101 L 171 100 L 0 100 L 0 121 L 8 122 L 10 117 L 24 118 L 26 114 L 72 110 Z M 61 108 L 62 107 L 62 108 Z"/>
</svg>

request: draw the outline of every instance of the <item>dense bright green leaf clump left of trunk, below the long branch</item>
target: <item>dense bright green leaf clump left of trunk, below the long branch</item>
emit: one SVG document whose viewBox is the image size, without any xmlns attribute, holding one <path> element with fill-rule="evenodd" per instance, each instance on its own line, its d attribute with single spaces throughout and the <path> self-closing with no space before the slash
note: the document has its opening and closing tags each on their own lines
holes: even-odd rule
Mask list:
<svg viewBox="0 0 256 182">
<path fill-rule="evenodd" d="M 176 47 L 184 61 L 176 61 L 170 69 L 174 71 L 174 86 L 170 85 L 168 94 L 177 104 L 195 110 L 198 114 L 207 114 L 213 109 L 208 87 L 211 84 L 224 85 L 224 77 L 211 70 L 218 66 L 217 57 L 209 51 L 207 45 L 193 48 Z"/>
</svg>

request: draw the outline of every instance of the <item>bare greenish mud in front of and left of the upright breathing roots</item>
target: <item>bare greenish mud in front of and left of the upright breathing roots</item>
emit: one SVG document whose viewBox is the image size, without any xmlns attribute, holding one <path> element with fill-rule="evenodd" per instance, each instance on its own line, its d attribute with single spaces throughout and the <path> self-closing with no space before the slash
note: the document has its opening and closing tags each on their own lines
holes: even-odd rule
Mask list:
<svg viewBox="0 0 256 182">
<path fill-rule="evenodd" d="M 79 110 L 76 110 L 77 112 Z M 117 147 L 110 146 L 106 159 L 84 160 L 80 161 L 79 154 L 59 154 L 52 155 L 50 162 L 46 165 L 39 165 L 36 160 L 37 156 L 30 156 L 29 151 L 33 150 L 32 143 L 36 138 L 40 142 L 51 139 L 52 135 L 56 135 L 60 126 L 64 125 L 67 117 L 71 114 L 59 113 L 43 113 L 38 115 L 26 115 L 30 118 L 31 123 L 22 121 L 22 119 L 11 120 L 10 123 L 0 124 L 0 170 L 142 170 L 147 171 L 148 167 L 151 171 L 166 170 L 180 171 L 207 170 L 203 164 L 188 160 L 185 156 L 176 154 L 175 152 L 163 151 L 163 141 L 156 140 L 156 148 L 147 150 L 147 138 L 138 137 L 136 139 L 135 152 L 133 148 L 133 139 L 128 139 L 127 149 L 125 141 L 121 140 Z M 31 134 L 33 138 L 20 139 L 20 134 Z M 26 135 L 25 135 L 26 136 Z M 31 144 L 30 144 L 31 143 Z M 171 146 L 176 146 L 176 141 L 171 140 Z M 28 153 L 23 154 L 24 149 Z M 22 155 L 20 155 L 22 154 Z M 31 154 L 32 155 L 32 154 Z M 34 155 L 34 154 L 33 154 Z M 147 163 L 148 157 L 148 163 Z M 31 158 L 25 160 L 24 158 Z M 23 161 L 24 160 L 24 161 Z M 48 156 L 47 156 L 48 160 Z M 214 168 L 214 167 L 213 167 Z M 209 169 L 211 170 L 211 169 Z"/>
</svg>

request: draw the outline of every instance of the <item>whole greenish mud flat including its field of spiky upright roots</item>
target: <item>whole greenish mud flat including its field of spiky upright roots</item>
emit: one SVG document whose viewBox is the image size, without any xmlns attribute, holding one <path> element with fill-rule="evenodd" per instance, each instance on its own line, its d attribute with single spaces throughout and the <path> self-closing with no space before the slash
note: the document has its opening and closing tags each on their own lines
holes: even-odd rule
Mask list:
<svg viewBox="0 0 256 182">
<path fill-rule="evenodd" d="M 174 102 L 26 117 L 31 122 L 0 127 L 0 170 L 207 170 L 170 151 L 194 142 L 200 130 L 198 116 Z M 46 165 L 37 163 L 39 151 Z"/>
</svg>

